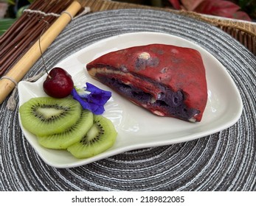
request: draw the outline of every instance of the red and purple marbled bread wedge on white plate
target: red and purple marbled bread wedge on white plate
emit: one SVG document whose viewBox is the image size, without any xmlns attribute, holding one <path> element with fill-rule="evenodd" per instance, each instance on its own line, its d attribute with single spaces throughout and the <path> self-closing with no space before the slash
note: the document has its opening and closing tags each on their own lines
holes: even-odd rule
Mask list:
<svg viewBox="0 0 256 206">
<path fill-rule="evenodd" d="M 104 54 L 86 65 L 94 79 L 157 116 L 201 121 L 207 81 L 195 49 L 150 44 Z"/>
</svg>

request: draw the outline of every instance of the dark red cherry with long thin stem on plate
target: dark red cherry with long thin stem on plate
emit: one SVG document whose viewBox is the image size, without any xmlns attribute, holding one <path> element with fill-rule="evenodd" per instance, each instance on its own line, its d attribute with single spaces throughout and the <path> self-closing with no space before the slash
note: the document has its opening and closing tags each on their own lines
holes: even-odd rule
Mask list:
<svg viewBox="0 0 256 206">
<path fill-rule="evenodd" d="M 71 75 L 63 68 L 55 67 L 49 72 L 43 85 L 44 91 L 54 98 L 69 96 L 74 88 Z"/>
</svg>

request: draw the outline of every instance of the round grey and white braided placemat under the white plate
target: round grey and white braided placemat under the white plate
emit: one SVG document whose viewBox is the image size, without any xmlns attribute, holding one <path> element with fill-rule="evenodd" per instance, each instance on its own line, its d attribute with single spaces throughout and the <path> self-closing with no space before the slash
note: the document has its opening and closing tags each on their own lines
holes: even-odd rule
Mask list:
<svg viewBox="0 0 256 206">
<path fill-rule="evenodd" d="M 221 29 L 156 10 L 93 13 L 66 27 L 46 51 L 46 65 L 97 40 L 142 31 L 177 35 L 213 54 L 241 92 L 238 123 L 196 141 L 137 149 L 77 168 L 52 168 L 22 135 L 18 107 L 7 110 L 5 101 L 0 106 L 1 191 L 256 191 L 256 57 Z M 27 77 L 41 69 L 38 60 Z"/>
</svg>

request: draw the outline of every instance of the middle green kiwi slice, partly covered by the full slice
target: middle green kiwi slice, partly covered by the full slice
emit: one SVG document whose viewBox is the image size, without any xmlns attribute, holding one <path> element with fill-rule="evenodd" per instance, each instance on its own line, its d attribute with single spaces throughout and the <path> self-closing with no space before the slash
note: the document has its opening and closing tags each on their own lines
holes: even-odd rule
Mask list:
<svg viewBox="0 0 256 206">
<path fill-rule="evenodd" d="M 92 124 L 93 114 L 89 110 L 83 110 L 80 119 L 72 127 L 58 134 L 38 136 L 38 143 L 49 149 L 66 149 L 73 143 L 80 141 Z"/>
</svg>

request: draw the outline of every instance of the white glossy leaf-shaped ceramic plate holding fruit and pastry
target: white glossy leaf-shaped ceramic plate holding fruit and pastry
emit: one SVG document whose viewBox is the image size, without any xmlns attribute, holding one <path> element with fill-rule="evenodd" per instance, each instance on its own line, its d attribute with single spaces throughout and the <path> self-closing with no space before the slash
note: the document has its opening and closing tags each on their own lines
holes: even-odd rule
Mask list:
<svg viewBox="0 0 256 206">
<path fill-rule="evenodd" d="M 112 91 L 111 99 L 105 104 L 103 116 L 109 118 L 117 129 L 117 141 L 111 149 L 97 156 L 77 159 L 65 150 L 45 149 L 38 144 L 35 135 L 20 124 L 25 138 L 45 163 L 56 168 L 83 166 L 133 149 L 193 141 L 231 127 L 238 121 L 243 110 L 243 103 L 238 88 L 224 65 L 201 46 L 174 35 L 159 32 L 131 32 L 116 35 L 77 51 L 55 66 L 66 69 L 78 87 L 90 82 L 104 90 L 111 90 L 91 79 L 85 69 L 86 63 L 110 51 L 150 43 L 190 47 L 201 53 L 206 68 L 208 87 L 207 107 L 201 122 L 190 123 L 176 118 L 154 116 Z M 18 83 L 20 105 L 32 97 L 46 96 L 42 86 L 45 78 L 46 75 L 37 82 L 21 81 Z"/>
</svg>

